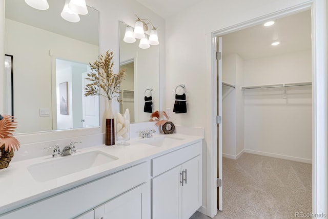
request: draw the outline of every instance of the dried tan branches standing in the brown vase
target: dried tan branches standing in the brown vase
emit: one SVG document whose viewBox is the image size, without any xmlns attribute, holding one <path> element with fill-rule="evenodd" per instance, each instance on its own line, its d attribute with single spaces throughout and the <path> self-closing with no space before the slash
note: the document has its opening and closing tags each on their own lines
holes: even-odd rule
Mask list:
<svg viewBox="0 0 328 219">
<path fill-rule="evenodd" d="M 117 74 L 113 73 L 114 63 L 112 62 L 113 52 L 107 51 L 105 55 L 100 55 L 99 60 L 90 64 L 92 72 L 88 73 L 90 84 L 85 87 L 85 96 L 101 95 L 107 99 L 116 98 L 119 101 L 119 84 L 126 76 L 126 70 L 120 70 Z M 99 88 L 104 93 L 99 92 Z"/>
</svg>

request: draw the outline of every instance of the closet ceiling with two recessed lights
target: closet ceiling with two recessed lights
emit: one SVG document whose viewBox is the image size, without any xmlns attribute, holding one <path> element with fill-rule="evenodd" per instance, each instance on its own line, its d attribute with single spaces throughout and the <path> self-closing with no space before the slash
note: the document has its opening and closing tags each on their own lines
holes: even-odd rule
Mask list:
<svg viewBox="0 0 328 219">
<path fill-rule="evenodd" d="M 277 46 L 271 43 L 279 41 Z M 311 10 L 222 36 L 222 54 L 239 54 L 243 59 L 254 59 L 311 50 Z"/>
</svg>

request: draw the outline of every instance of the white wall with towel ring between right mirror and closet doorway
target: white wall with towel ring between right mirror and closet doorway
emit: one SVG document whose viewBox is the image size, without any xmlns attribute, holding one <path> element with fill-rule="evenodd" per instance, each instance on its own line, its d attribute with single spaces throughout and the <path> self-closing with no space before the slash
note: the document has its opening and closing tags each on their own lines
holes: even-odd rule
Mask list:
<svg viewBox="0 0 328 219">
<path fill-rule="evenodd" d="M 216 214 L 215 142 L 212 132 L 212 72 L 209 54 L 211 54 L 211 33 L 250 19 L 286 9 L 306 0 L 204 0 L 179 12 L 166 21 L 166 107 L 174 104 L 174 89 L 185 84 L 188 113 L 172 113 L 172 121 L 178 125 L 204 127 L 203 159 L 204 188 L 202 212 Z M 206 174 L 207 173 L 207 174 Z M 207 180 L 205 180 L 207 179 Z M 207 182 L 206 182 L 207 181 Z M 210 203 L 211 202 L 211 203 Z M 209 205 L 208 205 L 209 204 Z"/>
</svg>

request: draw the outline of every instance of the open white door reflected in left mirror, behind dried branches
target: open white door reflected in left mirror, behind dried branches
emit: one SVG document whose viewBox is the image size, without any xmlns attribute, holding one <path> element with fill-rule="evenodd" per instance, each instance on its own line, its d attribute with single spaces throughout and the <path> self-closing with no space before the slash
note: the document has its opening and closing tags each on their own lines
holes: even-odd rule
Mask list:
<svg viewBox="0 0 328 219">
<path fill-rule="evenodd" d="M 88 66 L 89 69 L 89 66 Z M 91 71 L 91 70 L 90 70 Z M 89 70 L 88 70 L 89 72 Z M 99 96 L 85 96 L 85 90 L 87 84 L 90 83 L 86 78 L 87 73 L 82 73 L 82 111 L 83 115 L 81 122 L 83 127 L 99 126 Z"/>
</svg>

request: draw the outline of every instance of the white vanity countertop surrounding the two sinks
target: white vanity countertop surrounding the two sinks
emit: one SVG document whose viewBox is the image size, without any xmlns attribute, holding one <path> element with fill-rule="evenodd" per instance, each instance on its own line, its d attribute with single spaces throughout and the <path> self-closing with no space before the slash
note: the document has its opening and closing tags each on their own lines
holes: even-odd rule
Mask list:
<svg viewBox="0 0 328 219">
<path fill-rule="evenodd" d="M 133 166 L 135 164 L 149 160 L 149 158 L 156 157 L 161 154 L 185 147 L 189 144 L 199 142 L 202 139 L 201 136 L 182 134 L 158 134 L 154 135 L 152 138 L 159 136 L 177 137 L 183 138 L 183 140 L 178 141 L 176 144 L 161 147 L 144 144 L 142 143 L 143 139 L 140 138 L 134 138 L 128 141 L 128 143 L 130 143 L 129 146 L 99 145 L 84 149 L 78 149 L 77 145 L 77 152 L 69 156 L 54 158 L 51 156 L 43 156 L 19 162 L 12 162 L 8 168 L 0 170 L 0 215 L 13 209 L 49 197 L 56 193 L 63 192 L 65 190 L 96 180 L 97 178 L 103 177 L 113 172 L 125 169 L 129 166 Z M 118 160 L 58 177 L 54 180 L 49 180 L 46 182 L 37 182 L 34 180 L 27 169 L 27 167 L 32 164 L 53 161 L 57 158 L 69 159 L 70 156 L 95 150 L 115 156 L 118 158 Z"/>
</svg>

